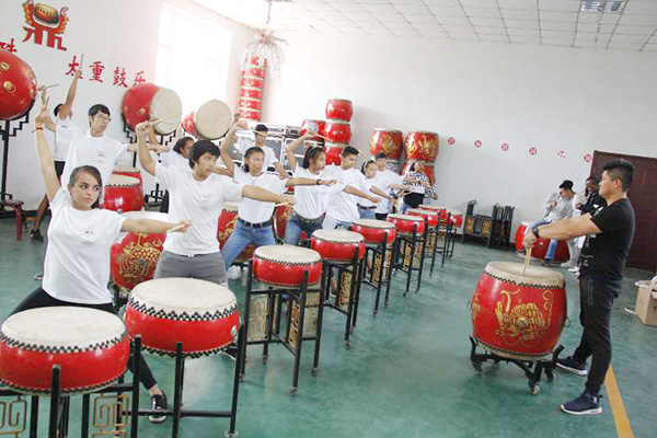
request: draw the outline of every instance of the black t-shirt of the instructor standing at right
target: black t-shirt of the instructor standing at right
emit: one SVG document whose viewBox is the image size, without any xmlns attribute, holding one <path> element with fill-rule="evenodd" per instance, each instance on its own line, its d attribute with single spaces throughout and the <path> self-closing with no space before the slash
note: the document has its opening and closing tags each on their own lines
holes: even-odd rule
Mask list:
<svg viewBox="0 0 657 438">
<path fill-rule="evenodd" d="M 591 220 L 602 232 L 586 238 L 581 250 L 581 274 L 622 278 L 634 239 L 632 204 L 622 198 L 591 215 Z"/>
</svg>

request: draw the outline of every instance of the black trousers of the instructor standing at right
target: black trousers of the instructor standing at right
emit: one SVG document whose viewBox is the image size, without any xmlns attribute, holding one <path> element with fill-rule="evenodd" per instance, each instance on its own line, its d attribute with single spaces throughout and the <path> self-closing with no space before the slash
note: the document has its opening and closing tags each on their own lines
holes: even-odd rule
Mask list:
<svg viewBox="0 0 657 438">
<path fill-rule="evenodd" d="M 611 364 L 611 334 L 609 321 L 613 300 L 621 290 L 620 279 L 593 275 L 579 277 L 579 321 L 584 331 L 573 358 L 580 364 L 591 358 L 586 389 L 598 395 Z"/>
</svg>

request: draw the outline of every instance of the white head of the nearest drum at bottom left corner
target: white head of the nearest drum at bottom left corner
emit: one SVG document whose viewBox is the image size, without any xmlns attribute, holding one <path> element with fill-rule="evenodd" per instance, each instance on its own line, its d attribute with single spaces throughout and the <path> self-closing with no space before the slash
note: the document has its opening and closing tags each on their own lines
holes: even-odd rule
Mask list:
<svg viewBox="0 0 657 438">
<path fill-rule="evenodd" d="M 115 314 L 78 307 L 25 310 L 9 316 L 0 331 L 25 349 L 67 348 L 71 353 L 114 345 L 126 334 Z"/>
</svg>

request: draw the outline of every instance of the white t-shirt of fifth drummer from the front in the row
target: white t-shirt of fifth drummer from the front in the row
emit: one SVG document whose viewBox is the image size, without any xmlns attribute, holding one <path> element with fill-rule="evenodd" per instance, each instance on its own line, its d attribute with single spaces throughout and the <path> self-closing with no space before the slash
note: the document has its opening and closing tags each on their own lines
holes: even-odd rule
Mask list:
<svg viewBox="0 0 657 438">
<path fill-rule="evenodd" d="M 371 184 L 365 178 L 362 172 L 354 168 L 345 171 L 339 165 L 331 164 L 324 168 L 323 177 L 326 180 L 335 178 L 345 185 L 350 185 L 367 194 L 369 194 L 371 187 Z M 341 222 L 353 222 L 360 217 L 358 214 L 358 200 L 362 198 L 356 195 L 341 192 L 331 197 L 326 216 L 331 216 Z"/>
</svg>

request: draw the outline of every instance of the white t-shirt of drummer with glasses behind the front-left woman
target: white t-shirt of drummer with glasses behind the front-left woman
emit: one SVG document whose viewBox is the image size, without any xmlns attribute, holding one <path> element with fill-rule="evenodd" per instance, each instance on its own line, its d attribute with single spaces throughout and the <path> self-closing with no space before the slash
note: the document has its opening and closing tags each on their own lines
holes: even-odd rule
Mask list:
<svg viewBox="0 0 657 438">
<path fill-rule="evenodd" d="M 72 132 L 72 134 L 71 134 Z M 103 185 L 106 185 L 116 166 L 118 158 L 128 149 L 127 143 L 113 140 L 105 136 L 92 137 L 89 131 L 78 127 L 57 125 L 56 135 L 71 136 L 72 140 L 66 157 L 66 165 L 61 174 L 62 184 L 66 186 L 73 169 L 81 165 L 93 165 L 101 172 Z"/>
</svg>

